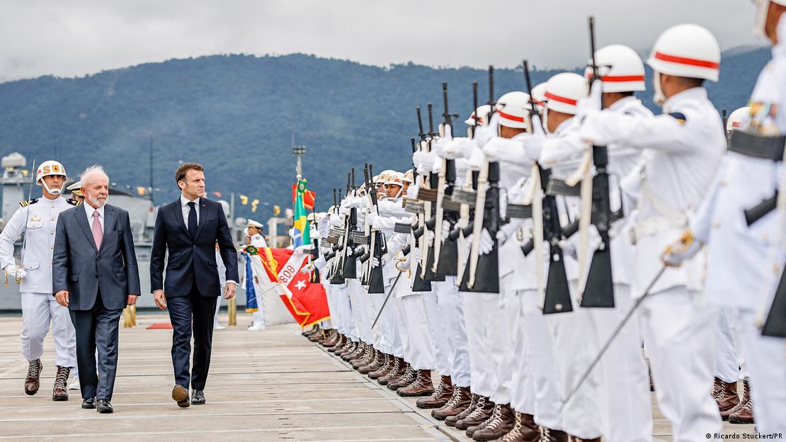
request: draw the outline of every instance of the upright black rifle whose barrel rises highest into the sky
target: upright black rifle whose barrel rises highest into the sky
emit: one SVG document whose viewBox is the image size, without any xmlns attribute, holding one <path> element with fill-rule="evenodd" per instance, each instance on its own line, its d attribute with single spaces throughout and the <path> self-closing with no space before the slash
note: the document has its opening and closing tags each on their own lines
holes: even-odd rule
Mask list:
<svg viewBox="0 0 786 442">
<path fill-rule="evenodd" d="M 593 78 L 590 84 L 602 81 L 595 63 L 595 18 L 589 17 L 589 50 L 592 51 Z M 602 105 L 601 105 L 602 107 Z M 614 308 L 614 280 L 612 278 L 612 248 L 608 230 L 615 215 L 608 186 L 608 149 L 604 145 L 592 146 L 595 176 L 592 180 L 592 215 L 590 223 L 601 235 L 601 245 L 593 253 L 589 263 L 584 289 L 579 289 L 582 307 Z"/>
</svg>

